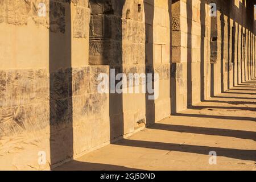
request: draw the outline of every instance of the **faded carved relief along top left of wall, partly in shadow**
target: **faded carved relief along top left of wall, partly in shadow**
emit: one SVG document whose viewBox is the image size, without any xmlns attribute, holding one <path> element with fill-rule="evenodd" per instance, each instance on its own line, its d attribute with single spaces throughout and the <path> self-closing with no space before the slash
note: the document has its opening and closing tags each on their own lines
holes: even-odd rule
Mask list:
<svg viewBox="0 0 256 182">
<path fill-rule="evenodd" d="M 0 0 L 0 23 L 27 24 L 32 17 L 52 32 L 65 32 L 65 3 L 68 0 Z M 39 3 L 46 6 L 46 16 L 38 16 Z"/>
</svg>

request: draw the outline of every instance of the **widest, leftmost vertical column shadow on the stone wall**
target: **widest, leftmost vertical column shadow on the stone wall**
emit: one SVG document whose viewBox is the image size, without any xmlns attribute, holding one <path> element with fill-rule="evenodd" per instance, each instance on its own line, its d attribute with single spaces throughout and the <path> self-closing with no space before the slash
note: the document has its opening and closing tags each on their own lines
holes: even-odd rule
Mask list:
<svg viewBox="0 0 256 182">
<path fill-rule="evenodd" d="M 51 168 L 73 158 L 71 37 L 71 1 L 49 1 Z"/>
</svg>

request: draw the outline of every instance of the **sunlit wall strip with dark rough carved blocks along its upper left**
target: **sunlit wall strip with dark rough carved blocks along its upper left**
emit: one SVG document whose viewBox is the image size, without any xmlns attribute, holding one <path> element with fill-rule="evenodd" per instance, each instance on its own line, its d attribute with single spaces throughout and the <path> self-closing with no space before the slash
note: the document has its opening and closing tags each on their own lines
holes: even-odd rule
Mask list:
<svg viewBox="0 0 256 182">
<path fill-rule="evenodd" d="M 187 108 L 187 24 L 186 2 L 172 1 L 172 78 L 176 85 L 176 111 Z M 191 48 L 191 45 L 190 45 Z M 173 97 L 173 96 L 172 96 Z"/>
</svg>

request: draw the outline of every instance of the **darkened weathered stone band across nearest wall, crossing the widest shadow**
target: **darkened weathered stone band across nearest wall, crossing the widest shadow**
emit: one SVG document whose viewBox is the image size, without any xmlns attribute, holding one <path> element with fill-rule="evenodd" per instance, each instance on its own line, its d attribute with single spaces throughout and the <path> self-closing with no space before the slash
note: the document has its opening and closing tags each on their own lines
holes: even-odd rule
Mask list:
<svg viewBox="0 0 256 182">
<path fill-rule="evenodd" d="M 4 131 L 2 135 L 11 136 L 24 131 L 43 129 L 49 122 L 51 125 L 63 123 L 69 126 L 73 112 L 71 97 L 85 97 L 92 91 L 90 84 L 93 83 L 95 83 L 93 92 L 97 94 L 96 81 L 101 72 L 108 73 L 108 68 L 102 67 L 92 76 L 89 67 L 59 69 L 49 77 L 43 69 L 2 70 L 0 72 L 0 128 Z M 77 115 L 97 114 L 97 111 L 103 109 L 101 103 L 106 101 L 106 95 L 94 96 L 94 93 L 90 96 L 94 98 L 90 100 L 90 105 L 89 95 L 82 100 L 84 106 L 82 112 Z M 96 101 L 102 102 L 99 102 L 97 108 L 93 108 Z"/>
</svg>

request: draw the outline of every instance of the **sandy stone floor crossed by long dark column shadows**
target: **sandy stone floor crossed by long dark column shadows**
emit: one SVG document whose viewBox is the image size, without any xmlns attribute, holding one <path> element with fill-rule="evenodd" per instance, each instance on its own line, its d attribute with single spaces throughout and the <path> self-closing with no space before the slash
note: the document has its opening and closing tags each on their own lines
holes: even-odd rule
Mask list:
<svg viewBox="0 0 256 182">
<path fill-rule="evenodd" d="M 253 80 L 56 170 L 256 170 L 255 111 Z"/>
</svg>

